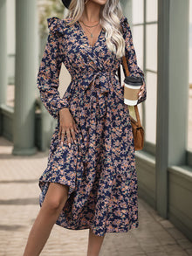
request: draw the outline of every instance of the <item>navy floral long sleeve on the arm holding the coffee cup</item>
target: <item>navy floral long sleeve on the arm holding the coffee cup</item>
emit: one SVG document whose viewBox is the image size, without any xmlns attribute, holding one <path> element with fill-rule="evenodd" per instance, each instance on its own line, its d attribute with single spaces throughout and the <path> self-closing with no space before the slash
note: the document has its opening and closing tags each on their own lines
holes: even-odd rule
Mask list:
<svg viewBox="0 0 192 256">
<path fill-rule="evenodd" d="M 141 77 L 144 84 L 144 93 L 141 94 L 141 99 L 137 101 L 137 105 L 138 105 L 147 99 L 147 88 L 146 88 L 144 72 L 141 70 L 141 68 L 137 64 L 137 57 L 136 57 L 136 52 L 134 50 L 132 31 L 127 21 L 127 17 L 125 16 L 122 17 L 121 25 L 122 25 L 122 31 L 123 31 L 123 38 L 125 39 L 125 45 L 126 45 L 125 56 L 127 59 L 127 66 L 130 72 L 130 76 Z M 124 69 L 124 66 L 123 66 L 123 71 L 126 74 L 126 70 Z"/>
</svg>

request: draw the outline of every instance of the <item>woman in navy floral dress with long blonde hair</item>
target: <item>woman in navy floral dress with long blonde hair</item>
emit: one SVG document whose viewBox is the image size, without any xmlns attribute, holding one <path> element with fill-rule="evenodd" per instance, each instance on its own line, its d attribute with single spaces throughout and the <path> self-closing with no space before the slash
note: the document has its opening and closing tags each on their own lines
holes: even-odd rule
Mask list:
<svg viewBox="0 0 192 256">
<path fill-rule="evenodd" d="M 143 79 L 138 104 L 146 100 L 144 73 L 119 0 L 84 1 L 72 0 L 65 19 L 48 18 L 38 89 L 58 125 L 24 256 L 41 253 L 55 223 L 89 228 L 88 256 L 99 255 L 106 232 L 139 225 L 134 137 L 117 77 L 121 57 L 126 55 L 130 75 Z M 72 81 L 60 98 L 62 62 Z"/>
</svg>

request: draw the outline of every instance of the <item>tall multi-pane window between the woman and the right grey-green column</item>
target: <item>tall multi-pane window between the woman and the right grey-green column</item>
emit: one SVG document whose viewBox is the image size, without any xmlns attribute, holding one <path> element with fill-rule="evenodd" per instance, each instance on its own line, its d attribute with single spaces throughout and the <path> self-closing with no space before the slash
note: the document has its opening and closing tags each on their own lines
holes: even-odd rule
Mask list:
<svg viewBox="0 0 192 256">
<path fill-rule="evenodd" d="M 132 1 L 134 48 L 138 66 L 145 73 L 147 85 L 147 100 L 144 104 L 139 104 L 138 107 L 142 125 L 145 126 L 145 139 L 153 144 L 156 143 L 157 3 L 157 0 Z M 146 31 L 146 34 L 144 34 L 144 31 Z M 145 107 L 144 111 L 142 111 L 143 107 Z"/>
</svg>

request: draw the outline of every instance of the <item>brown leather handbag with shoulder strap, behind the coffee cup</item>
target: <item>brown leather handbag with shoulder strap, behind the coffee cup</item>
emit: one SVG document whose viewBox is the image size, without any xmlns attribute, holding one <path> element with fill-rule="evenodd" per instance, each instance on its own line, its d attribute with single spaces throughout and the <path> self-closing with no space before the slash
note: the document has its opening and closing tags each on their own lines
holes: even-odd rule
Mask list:
<svg viewBox="0 0 192 256">
<path fill-rule="evenodd" d="M 122 60 L 123 60 L 123 66 L 126 70 L 126 75 L 129 76 L 130 73 L 128 70 L 126 57 L 123 56 Z M 119 79 L 120 79 L 120 68 L 118 69 L 118 75 L 119 75 Z M 134 107 L 134 113 L 136 116 L 136 120 L 130 114 L 130 120 L 131 120 L 133 135 L 134 135 L 134 149 L 141 150 L 141 149 L 143 149 L 143 145 L 144 145 L 144 128 L 141 126 L 139 110 L 138 110 L 137 105 L 134 105 L 134 106 L 127 105 L 127 107 L 129 109 L 129 113 L 132 111 L 132 108 Z"/>
</svg>

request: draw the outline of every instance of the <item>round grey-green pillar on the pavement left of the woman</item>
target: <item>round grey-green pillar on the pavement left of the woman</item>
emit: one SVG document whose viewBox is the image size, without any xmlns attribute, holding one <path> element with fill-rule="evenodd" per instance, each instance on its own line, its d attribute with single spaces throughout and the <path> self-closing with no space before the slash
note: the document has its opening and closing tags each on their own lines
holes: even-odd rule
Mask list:
<svg viewBox="0 0 192 256">
<path fill-rule="evenodd" d="M 31 155 L 34 147 L 35 91 L 38 61 L 36 0 L 17 0 L 14 155 Z"/>
</svg>

